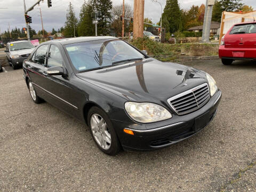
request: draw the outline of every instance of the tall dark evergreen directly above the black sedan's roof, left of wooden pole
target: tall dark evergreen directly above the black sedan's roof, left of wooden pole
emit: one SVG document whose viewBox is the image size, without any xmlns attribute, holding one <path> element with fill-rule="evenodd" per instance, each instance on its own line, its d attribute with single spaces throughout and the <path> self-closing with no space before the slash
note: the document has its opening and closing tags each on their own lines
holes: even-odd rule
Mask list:
<svg viewBox="0 0 256 192">
<path fill-rule="evenodd" d="M 93 0 L 94 10 L 99 12 L 98 17 L 98 34 L 108 35 L 110 29 L 110 19 L 111 19 L 111 0 Z"/>
</svg>

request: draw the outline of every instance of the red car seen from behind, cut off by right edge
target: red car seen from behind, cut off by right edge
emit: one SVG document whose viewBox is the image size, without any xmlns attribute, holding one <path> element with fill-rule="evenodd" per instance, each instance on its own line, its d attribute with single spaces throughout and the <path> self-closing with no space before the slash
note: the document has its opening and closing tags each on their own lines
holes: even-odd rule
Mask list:
<svg viewBox="0 0 256 192">
<path fill-rule="evenodd" d="M 234 60 L 256 60 L 256 21 L 231 27 L 221 39 L 219 57 L 224 65 Z"/>
</svg>

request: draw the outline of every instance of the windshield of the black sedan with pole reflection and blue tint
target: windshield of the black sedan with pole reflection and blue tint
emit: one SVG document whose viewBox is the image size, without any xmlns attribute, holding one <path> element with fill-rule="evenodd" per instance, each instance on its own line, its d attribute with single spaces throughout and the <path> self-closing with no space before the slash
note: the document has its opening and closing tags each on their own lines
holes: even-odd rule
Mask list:
<svg viewBox="0 0 256 192">
<path fill-rule="evenodd" d="M 93 70 L 120 65 L 129 60 L 141 60 L 144 57 L 131 45 L 120 39 L 73 43 L 65 46 L 73 66 L 78 71 Z"/>
</svg>

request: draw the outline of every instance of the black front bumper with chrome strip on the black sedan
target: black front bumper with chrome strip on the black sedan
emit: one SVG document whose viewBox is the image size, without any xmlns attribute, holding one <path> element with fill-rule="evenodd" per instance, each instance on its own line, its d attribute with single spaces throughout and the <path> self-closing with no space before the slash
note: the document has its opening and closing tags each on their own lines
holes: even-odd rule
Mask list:
<svg viewBox="0 0 256 192">
<path fill-rule="evenodd" d="M 124 149 L 127 150 L 154 150 L 165 148 L 173 143 L 185 140 L 207 126 L 217 113 L 217 107 L 221 100 L 221 91 L 213 97 L 202 108 L 193 113 L 178 116 L 173 114 L 171 119 L 166 121 L 138 124 L 113 121 L 113 125 Z M 209 115 L 205 125 L 201 129 L 195 128 L 195 119 L 202 115 Z M 208 117 L 208 116 L 207 116 Z M 126 134 L 123 129 L 130 129 L 134 135 Z"/>
</svg>

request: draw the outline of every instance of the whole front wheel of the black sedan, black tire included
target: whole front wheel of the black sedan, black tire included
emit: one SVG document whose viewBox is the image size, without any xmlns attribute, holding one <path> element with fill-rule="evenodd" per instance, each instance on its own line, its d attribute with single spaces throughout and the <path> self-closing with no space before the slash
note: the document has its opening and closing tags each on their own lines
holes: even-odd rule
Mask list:
<svg viewBox="0 0 256 192">
<path fill-rule="evenodd" d="M 92 107 L 88 112 L 87 122 L 92 138 L 98 148 L 107 155 L 118 154 L 121 145 L 105 111 L 99 107 Z M 98 124 L 95 122 L 98 122 Z"/>
</svg>

